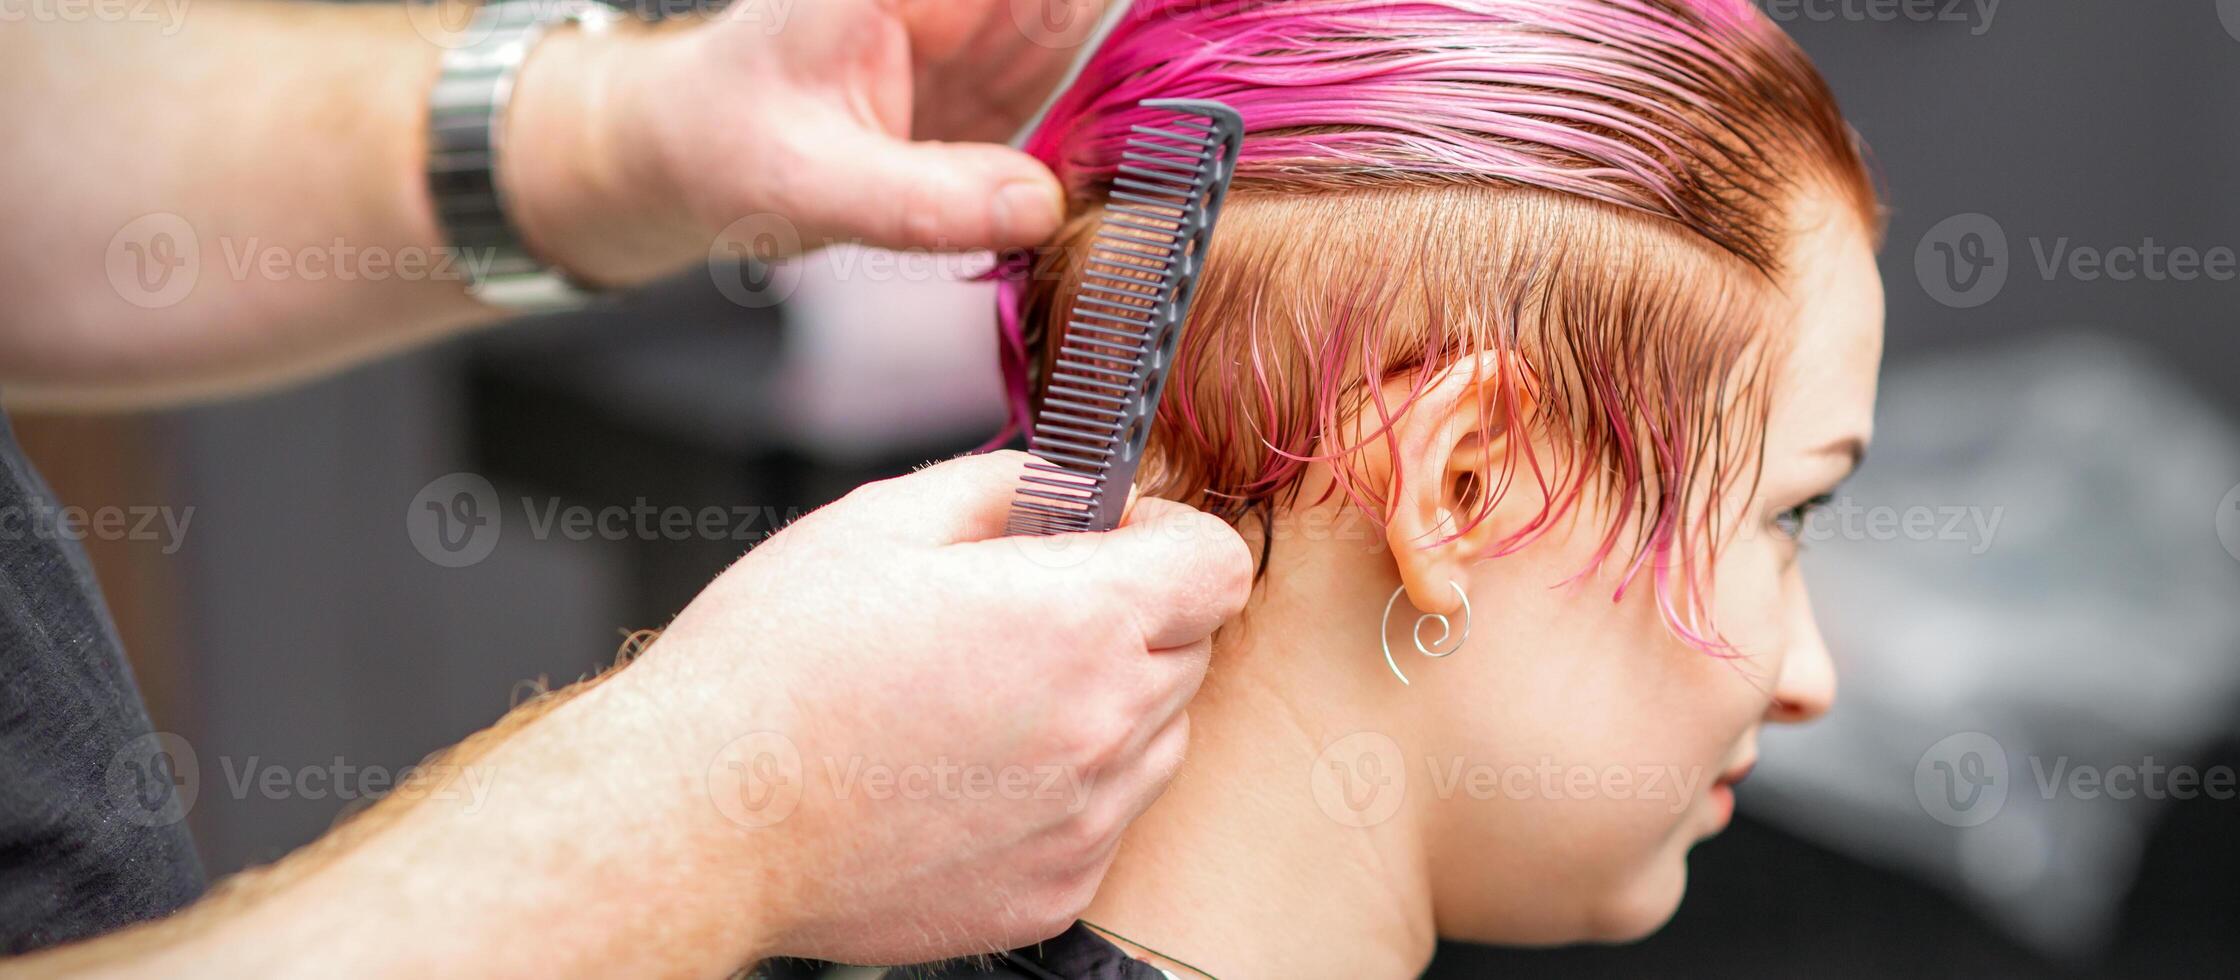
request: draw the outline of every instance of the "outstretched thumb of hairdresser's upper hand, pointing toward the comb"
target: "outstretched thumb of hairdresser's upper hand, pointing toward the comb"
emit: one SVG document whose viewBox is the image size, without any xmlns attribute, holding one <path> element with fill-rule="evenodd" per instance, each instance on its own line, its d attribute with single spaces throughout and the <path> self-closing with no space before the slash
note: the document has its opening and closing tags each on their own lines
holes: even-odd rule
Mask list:
<svg viewBox="0 0 2240 980">
<path fill-rule="evenodd" d="M 1024 248 L 1064 217 L 1057 177 L 1037 159 L 995 143 L 912 143 L 856 132 L 813 161 L 818 201 L 797 201 L 838 239 L 883 248 Z"/>
</svg>

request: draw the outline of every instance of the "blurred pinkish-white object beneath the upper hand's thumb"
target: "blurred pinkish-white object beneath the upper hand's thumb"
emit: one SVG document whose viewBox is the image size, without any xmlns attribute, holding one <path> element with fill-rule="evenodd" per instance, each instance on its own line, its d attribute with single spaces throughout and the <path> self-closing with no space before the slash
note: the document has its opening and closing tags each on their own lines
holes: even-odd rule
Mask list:
<svg viewBox="0 0 2240 980">
<path fill-rule="evenodd" d="M 1004 425 L 988 255 L 831 246 L 791 266 L 780 403 L 795 445 L 865 459 Z"/>
</svg>

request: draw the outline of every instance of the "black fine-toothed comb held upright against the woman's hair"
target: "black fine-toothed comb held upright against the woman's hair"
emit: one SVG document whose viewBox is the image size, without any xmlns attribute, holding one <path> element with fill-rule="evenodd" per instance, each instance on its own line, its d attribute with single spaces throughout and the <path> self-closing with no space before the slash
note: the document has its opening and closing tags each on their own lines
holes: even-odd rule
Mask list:
<svg viewBox="0 0 2240 980">
<path fill-rule="evenodd" d="M 1010 503 L 1010 535 L 1120 526 L 1221 199 L 1236 172 L 1243 119 L 1201 98 L 1147 98 L 1172 112 L 1136 125 L 1120 152 L 1104 222 L 1044 387 L 1028 450 L 1037 459 Z"/>
</svg>

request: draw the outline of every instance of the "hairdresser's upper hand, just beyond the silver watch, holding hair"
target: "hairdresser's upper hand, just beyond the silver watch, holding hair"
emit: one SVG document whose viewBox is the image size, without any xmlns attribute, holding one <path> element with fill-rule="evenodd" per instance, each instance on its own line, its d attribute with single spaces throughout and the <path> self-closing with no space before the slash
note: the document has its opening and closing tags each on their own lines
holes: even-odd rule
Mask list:
<svg viewBox="0 0 2240 980">
<path fill-rule="evenodd" d="M 1037 244 L 1062 217 L 1057 181 L 995 143 L 1107 4 L 735 0 L 652 31 L 558 34 L 508 110 L 529 148 L 506 163 L 524 235 L 594 282 L 706 260 L 726 228 L 762 257 Z"/>
</svg>

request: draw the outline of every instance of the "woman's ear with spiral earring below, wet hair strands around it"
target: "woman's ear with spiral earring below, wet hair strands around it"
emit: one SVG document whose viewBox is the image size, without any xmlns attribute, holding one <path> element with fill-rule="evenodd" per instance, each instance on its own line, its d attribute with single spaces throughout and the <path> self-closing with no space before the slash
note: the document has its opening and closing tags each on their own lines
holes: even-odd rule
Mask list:
<svg viewBox="0 0 2240 980">
<path fill-rule="evenodd" d="M 1407 392 L 1398 392 L 1407 398 Z M 1393 421 L 1384 544 L 1409 602 L 1456 613 L 1469 568 L 1494 544 L 1485 494 L 1519 452 L 1532 385 L 1516 354 L 1483 351 L 1440 371 Z M 1485 519 L 1467 526 L 1472 517 Z"/>
</svg>

